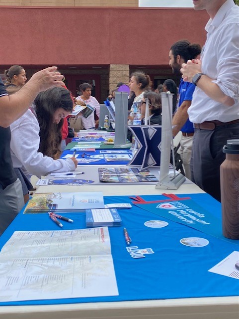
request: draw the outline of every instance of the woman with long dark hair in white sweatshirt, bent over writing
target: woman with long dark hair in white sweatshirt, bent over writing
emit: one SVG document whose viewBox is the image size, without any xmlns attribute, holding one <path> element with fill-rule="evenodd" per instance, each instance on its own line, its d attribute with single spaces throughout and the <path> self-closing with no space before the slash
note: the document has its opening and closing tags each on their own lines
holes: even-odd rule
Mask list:
<svg viewBox="0 0 239 319">
<path fill-rule="evenodd" d="M 73 110 L 70 92 L 54 87 L 38 94 L 34 105 L 10 125 L 13 167 L 24 167 L 30 174 L 41 176 L 50 172 L 75 170 L 75 158 L 58 159 L 63 118 Z M 27 195 L 22 182 L 23 194 Z M 26 197 L 25 197 L 26 198 Z"/>
</svg>

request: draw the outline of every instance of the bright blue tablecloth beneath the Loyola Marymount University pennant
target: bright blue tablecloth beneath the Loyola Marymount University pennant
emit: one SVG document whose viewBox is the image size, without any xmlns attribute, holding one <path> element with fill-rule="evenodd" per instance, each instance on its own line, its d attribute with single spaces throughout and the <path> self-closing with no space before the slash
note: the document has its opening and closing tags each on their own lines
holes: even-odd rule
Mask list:
<svg viewBox="0 0 239 319">
<path fill-rule="evenodd" d="M 198 205 L 221 220 L 221 204 L 208 194 L 189 194 Z M 142 196 L 157 200 L 161 195 Z M 127 196 L 106 196 L 106 203 L 132 203 Z M 110 301 L 132 301 L 150 299 L 174 299 L 193 297 L 238 296 L 239 280 L 208 272 L 210 268 L 239 250 L 239 241 L 221 240 L 178 222 L 161 217 L 153 212 L 133 205 L 131 209 L 119 210 L 121 227 L 109 228 L 112 256 L 119 296 L 99 298 L 75 298 L 0 303 L 0 305 L 43 305 L 65 303 L 88 303 Z M 64 214 L 62 214 L 64 215 Z M 68 213 L 74 223 L 64 223 L 64 229 L 85 228 L 85 213 Z M 164 228 L 148 228 L 149 220 L 164 220 Z M 133 259 L 126 249 L 123 228 L 132 239 L 131 246 L 140 249 L 152 248 L 154 254 L 142 259 Z M 0 237 L 0 247 L 15 230 L 59 230 L 47 214 L 19 213 Z M 221 232 L 221 228 L 217 229 Z M 180 243 L 181 238 L 203 237 L 209 241 L 205 247 L 194 248 Z"/>
</svg>

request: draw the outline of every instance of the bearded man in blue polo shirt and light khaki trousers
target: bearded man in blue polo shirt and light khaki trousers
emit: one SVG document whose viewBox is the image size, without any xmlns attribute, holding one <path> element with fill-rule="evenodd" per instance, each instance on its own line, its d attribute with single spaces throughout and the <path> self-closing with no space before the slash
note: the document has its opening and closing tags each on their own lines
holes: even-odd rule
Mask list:
<svg viewBox="0 0 239 319">
<path fill-rule="evenodd" d="M 181 74 L 180 69 L 183 63 L 187 63 L 189 59 L 195 59 L 201 53 L 199 44 L 192 44 L 187 40 L 175 42 L 169 51 L 169 66 L 174 74 Z M 184 82 L 182 79 L 179 85 L 179 101 L 178 109 L 173 116 L 172 125 L 173 136 L 176 136 L 179 131 L 182 132 L 180 148 L 178 153 L 181 156 L 185 175 L 191 179 L 190 160 L 192 152 L 192 140 L 194 134 L 193 124 L 188 119 L 187 110 L 192 102 L 192 95 L 195 85 L 189 82 Z"/>
</svg>

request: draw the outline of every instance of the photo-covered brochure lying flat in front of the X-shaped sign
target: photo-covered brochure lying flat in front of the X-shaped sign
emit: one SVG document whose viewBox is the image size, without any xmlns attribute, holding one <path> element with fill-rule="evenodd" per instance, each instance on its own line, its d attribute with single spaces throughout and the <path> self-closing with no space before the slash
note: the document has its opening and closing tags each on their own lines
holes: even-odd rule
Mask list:
<svg viewBox="0 0 239 319">
<path fill-rule="evenodd" d="M 146 169 L 140 171 L 138 168 L 129 167 L 112 167 L 112 168 L 98 168 L 99 180 L 102 182 L 149 182 L 158 181 L 159 179 L 152 175 Z"/>
</svg>

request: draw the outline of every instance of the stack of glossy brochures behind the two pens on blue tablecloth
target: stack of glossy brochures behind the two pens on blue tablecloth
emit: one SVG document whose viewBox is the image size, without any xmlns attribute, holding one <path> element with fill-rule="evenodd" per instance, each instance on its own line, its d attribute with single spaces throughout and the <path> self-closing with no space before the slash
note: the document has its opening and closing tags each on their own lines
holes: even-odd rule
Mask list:
<svg viewBox="0 0 239 319">
<path fill-rule="evenodd" d="M 24 214 L 47 212 L 79 212 L 91 208 L 104 208 L 102 192 L 35 193 Z"/>
</svg>

